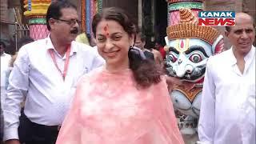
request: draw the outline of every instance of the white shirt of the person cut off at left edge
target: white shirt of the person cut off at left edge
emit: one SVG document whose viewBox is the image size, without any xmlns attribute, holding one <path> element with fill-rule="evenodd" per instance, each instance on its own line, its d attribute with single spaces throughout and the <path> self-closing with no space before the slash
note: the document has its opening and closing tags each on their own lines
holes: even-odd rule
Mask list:
<svg viewBox="0 0 256 144">
<path fill-rule="evenodd" d="M 6 86 L 6 70 L 8 70 L 10 58 L 10 54 L 1 55 L 1 87 Z"/>
</svg>

